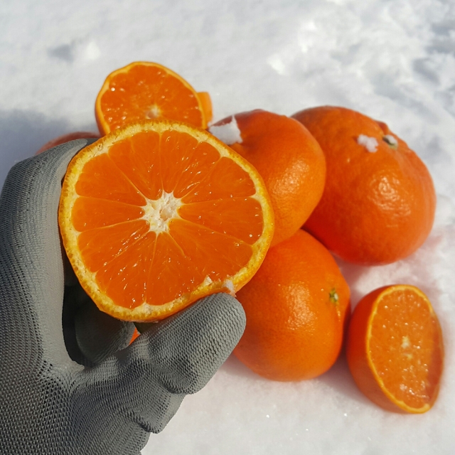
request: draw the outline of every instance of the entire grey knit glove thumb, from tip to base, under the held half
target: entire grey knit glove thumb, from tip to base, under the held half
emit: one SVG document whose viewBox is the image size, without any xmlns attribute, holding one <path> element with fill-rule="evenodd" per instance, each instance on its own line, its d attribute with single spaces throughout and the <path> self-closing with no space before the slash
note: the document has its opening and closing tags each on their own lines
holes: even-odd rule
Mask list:
<svg viewBox="0 0 455 455">
<path fill-rule="evenodd" d="M 128 348 L 90 371 L 112 411 L 147 432 L 159 432 L 184 395 L 198 392 L 228 358 L 245 330 L 245 312 L 228 294 L 214 294 L 154 324 Z M 100 389 L 100 385 L 102 387 Z"/>
</svg>

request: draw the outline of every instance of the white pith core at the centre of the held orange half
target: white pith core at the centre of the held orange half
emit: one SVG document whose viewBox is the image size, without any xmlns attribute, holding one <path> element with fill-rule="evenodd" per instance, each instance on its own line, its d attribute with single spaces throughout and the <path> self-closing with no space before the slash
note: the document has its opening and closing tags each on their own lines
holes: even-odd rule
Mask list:
<svg viewBox="0 0 455 455">
<path fill-rule="evenodd" d="M 169 231 L 169 222 L 174 218 L 180 218 L 178 208 L 183 205 L 179 198 L 173 196 L 173 193 L 163 191 L 159 199 L 147 199 L 144 205 L 143 220 L 149 223 L 149 229 L 156 232 Z"/>
</svg>

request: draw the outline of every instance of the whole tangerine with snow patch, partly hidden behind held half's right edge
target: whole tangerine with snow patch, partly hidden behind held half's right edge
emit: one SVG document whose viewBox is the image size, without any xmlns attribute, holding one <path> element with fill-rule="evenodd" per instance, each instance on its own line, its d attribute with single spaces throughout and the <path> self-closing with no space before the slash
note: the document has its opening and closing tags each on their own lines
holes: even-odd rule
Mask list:
<svg viewBox="0 0 455 455">
<path fill-rule="evenodd" d="M 210 127 L 238 128 L 228 145 L 257 168 L 272 199 L 275 234 L 272 245 L 293 235 L 321 199 L 326 161 L 316 139 L 299 122 L 260 109 L 226 117 Z"/>
</svg>

